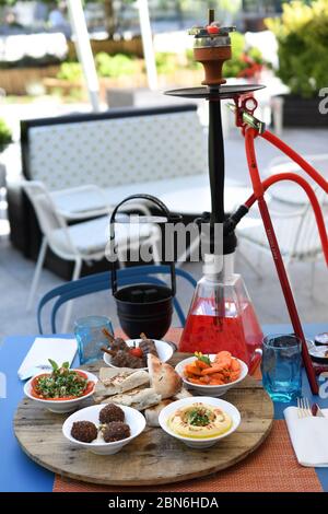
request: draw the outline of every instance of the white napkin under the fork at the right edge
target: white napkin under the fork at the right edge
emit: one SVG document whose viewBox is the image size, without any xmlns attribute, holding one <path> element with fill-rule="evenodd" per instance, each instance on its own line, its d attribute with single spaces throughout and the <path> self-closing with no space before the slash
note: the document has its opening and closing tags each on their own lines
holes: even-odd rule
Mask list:
<svg viewBox="0 0 328 514">
<path fill-rule="evenodd" d="M 298 418 L 296 407 L 288 407 L 283 413 L 296 458 L 302 466 L 328 467 L 328 409 L 321 409 L 326 418 Z"/>
</svg>

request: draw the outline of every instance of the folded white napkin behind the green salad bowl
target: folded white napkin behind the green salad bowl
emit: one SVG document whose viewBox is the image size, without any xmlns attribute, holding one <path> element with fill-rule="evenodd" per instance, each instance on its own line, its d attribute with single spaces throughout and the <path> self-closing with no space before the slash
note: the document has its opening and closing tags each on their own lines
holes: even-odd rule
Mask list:
<svg viewBox="0 0 328 514">
<path fill-rule="evenodd" d="M 75 339 L 37 337 L 19 369 L 19 377 L 24 379 L 24 376 L 26 377 L 26 374 L 30 373 L 30 370 L 33 371 L 34 366 L 50 365 L 48 359 L 52 359 L 59 365 L 67 361 L 71 365 L 77 350 Z"/>
</svg>

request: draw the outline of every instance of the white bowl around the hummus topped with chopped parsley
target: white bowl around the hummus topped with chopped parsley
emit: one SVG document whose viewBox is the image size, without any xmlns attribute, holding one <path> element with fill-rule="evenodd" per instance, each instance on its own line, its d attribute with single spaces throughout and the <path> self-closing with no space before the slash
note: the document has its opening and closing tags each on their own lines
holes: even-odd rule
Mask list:
<svg viewBox="0 0 328 514">
<path fill-rule="evenodd" d="M 191 404 L 202 402 L 212 405 L 214 407 L 219 407 L 220 409 L 224 410 L 231 418 L 232 418 L 232 427 L 231 429 L 225 432 L 224 434 L 216 435 L 215 437 L 204 437 L 204 439 L 190 439 L 184 437 L 183 435 L 178 435 L 174 433 L 167 425 L 167 420 L 171 414 L 173 414 L 177 409 L 181 407 L 186 407 Z M 226 437 L 227 435 L 232 434 L 235 430 L 237 430 L 241 423 L 241 413 L 235 406 L 230 404 L 229 401 L 221 400 L 219 398 L 211 398 L 209 396 L 194 396 L 189 398 L 183 398 L 181 400 L 174 401 L 173 404 L 167 405 L 164 409 L 160 412 L 159 422 L 164 432 L 173 437 L 181 441 L 190 448 L 209 448 L 218 443 L 218 441 Z"/>
</svg>

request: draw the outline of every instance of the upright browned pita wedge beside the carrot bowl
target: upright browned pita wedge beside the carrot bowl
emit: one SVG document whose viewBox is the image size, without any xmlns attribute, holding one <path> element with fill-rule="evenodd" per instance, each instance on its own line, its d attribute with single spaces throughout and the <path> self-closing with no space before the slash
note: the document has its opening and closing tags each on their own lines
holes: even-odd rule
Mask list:
<svg viewBox="0 0 328 514">
<path fill-rule="evenodd" d="M 149 353 L 148 369 L 150 374 L 151 387 L 155 389 L 162 399 L 172 398 L 181 388 L 181 378 L 176 371 L 166 362 L 161 362 L 155 355 Z"/>
</svg>

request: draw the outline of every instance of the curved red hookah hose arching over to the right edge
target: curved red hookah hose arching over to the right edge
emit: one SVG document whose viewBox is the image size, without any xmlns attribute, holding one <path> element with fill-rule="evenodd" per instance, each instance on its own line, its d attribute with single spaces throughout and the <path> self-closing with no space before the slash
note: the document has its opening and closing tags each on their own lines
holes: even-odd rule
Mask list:
<svg viewBox="0 0 328 514">
<path fill-rule="evenodd" d="M 281 180 L 292 180 L 298 184 L 304 191 L 306 192 L 308 200 L 312 205 L 312 208 L 314 210 L 314 215 L 316 218 L 317 226 L 318 226 L 318 232 L 323 245 L 323 250 L 325 255 L 325 260 L 328 266 L 328 236 L 327 236 L 327 231 L 326 231 L 326 225 L 325 225 L 325 220 L 323 215 L 323 211 L 320 209 L 320 205 L 318 202 L 318 199 L 311 187 L 311 185 L 305 180 L 305 178 L 301 177 L 300 175 L 296 175 L 295 173 L 277 173 L 276 175 L 272 175 L 268 178 L 266 178 L 262 182 L 262 186 L 265 191 L 272 186 L 273 184 L 277 184 L 278 182 Z M 245 206 L 250 209 L 250 207 L 256 202 L 256 196 L 253 194 L 246 201 Z"/>
</svg>

